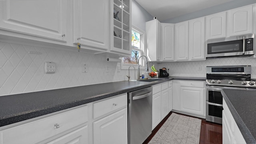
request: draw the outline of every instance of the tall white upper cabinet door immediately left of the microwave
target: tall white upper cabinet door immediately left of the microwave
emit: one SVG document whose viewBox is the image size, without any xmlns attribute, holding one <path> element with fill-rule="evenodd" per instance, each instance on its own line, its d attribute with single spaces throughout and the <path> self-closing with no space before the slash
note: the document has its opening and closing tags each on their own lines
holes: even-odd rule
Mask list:
<svg viewBox="0 0 256 144">
<path fill-rule="evenodd" d="M 205 60 L 205 18 L 189 20 L 189 60 Z"/>
</svg>

